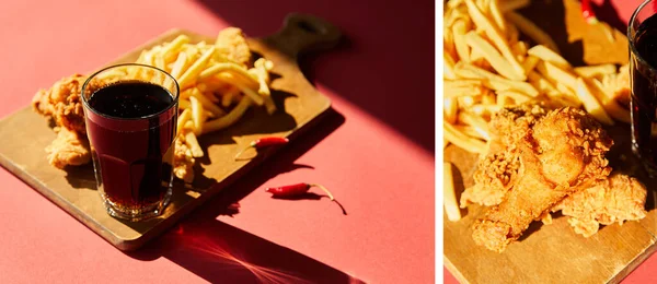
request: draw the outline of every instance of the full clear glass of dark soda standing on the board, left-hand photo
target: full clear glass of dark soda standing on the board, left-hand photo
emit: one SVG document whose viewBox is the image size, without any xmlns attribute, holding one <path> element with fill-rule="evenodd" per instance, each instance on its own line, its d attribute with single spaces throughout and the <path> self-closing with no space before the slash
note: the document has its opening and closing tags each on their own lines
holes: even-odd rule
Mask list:
<svg viewBox="0 0 657 284">
<path fill-rule="evenodd" d="M 82 86 L 99 192 L 110 215 L 141 221 L 171 198 L 178 85 L 143 64 L 107 67 Z"/>
</svg>

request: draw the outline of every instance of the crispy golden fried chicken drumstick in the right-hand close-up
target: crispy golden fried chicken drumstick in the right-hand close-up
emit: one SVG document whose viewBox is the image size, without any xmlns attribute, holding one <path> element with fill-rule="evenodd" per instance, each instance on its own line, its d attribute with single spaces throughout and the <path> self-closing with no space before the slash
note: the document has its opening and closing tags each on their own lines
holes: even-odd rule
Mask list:
<svg viewBox="0 0 657 284">
<path fill-rule="evenodd" d="M 611 171 L 604 153 L 612 144 L 581 109 L 565 107 L 540 118 L 518 143 L 517 182 L 475 222 L 474 241 L 502 252 L 566 196 L 604 179 Z"/>
</svg>

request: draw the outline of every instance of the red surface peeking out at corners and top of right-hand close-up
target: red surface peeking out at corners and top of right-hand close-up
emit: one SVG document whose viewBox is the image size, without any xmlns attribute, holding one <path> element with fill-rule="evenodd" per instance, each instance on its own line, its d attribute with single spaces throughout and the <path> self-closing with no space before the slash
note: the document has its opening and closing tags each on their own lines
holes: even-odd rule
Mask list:
<svg viewBox="0 0 657 284">
<path fill-rule="evenodd" d="M 593 0 L 593 11 L 598 17 L 609 22 L 618 28 L 625 28 L 632 12 L 643 0 Z M 622 29 L 624 31 L 624 29 Z M 636 270 L 627 275 L 623 283 L 655 283 L 657 282 L 657 255 L 653 255 Z M 443 268 L 445 283 L 458 283 L 458 281 Z"/>
</svg>

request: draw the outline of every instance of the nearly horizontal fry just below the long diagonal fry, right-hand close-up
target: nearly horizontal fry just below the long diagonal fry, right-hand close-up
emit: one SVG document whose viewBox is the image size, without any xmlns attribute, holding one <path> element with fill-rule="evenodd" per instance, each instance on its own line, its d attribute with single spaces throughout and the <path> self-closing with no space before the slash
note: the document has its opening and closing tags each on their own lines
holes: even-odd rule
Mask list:
<svg viewBox="0 0 657 284">
<path fill-rule="evenodd" d="M 454 67 L 454 73 L 460 78 L 480 79 L 487 88 L 495 91 L 516 90 L 532 97 L 539 95 L 539 91 L 527 82 L 511 81 L 473 64 L 459 62 Z"/>
</svg>

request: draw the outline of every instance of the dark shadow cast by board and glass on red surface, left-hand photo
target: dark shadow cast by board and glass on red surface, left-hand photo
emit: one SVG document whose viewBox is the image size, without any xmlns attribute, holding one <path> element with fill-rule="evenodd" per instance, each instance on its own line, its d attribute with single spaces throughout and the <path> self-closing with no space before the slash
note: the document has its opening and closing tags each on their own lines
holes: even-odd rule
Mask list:
<svg viewBox="0 0 657 284">
<path fill-rule="evenodd" d="M 310 257 L 217 221 L 219 215 L 239 214 L 231 204 L 273 177 L 298 168 L 312 168 L 295 161 L 342 126 L 345 118 L 334 110 L 310 131 L 290 142 L 250 175 L 233 184 L 193 212 L 176 227 L 128 256 L 139 260 L 164 257 L 212 283 L 362 283 Z"/>
</svg>

